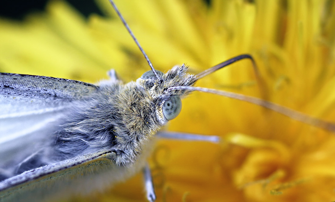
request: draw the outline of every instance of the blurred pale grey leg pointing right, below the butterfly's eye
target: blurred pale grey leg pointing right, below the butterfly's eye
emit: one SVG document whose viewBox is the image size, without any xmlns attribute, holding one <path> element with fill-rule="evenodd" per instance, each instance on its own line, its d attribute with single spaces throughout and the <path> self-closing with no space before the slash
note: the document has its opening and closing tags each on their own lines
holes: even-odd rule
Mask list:
<svg viewBox="0 0 335 202">
<path fill-rule="evenodd" d="M 163 139 L 174 139 L 174 140 L 187 140 L 187 141 L 205 141 L 212 143 L 219 143 L 220 137 L 214 135 L 199 135 L 192 133 L 179 133 L 179 132 L 158 132 L 156 137 Z"/>
</svg>

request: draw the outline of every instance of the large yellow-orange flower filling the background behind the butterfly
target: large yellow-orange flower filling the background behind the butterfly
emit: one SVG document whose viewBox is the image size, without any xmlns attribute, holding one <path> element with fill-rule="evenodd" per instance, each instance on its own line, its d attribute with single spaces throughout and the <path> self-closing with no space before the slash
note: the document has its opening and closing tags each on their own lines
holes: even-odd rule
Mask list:
<svg viewBox="0 0 335 202">
<path fill-rule="evenodd" d="M 207 3 L 206 3 L 207 2 Z M 252 1 L 253 2 L 253 1 Z M 125 81 L 149 66 L 114 18 L 86 22 L 62 1 L 23 23 L 0 21 L 0 68 L 95 82 L 116 69 Z M 116 1 L 155 68 L 200 72 L 250 53 L 266 82 L 240 61 L 197 86 L 230 90 L 335 122 L 335 3 L 311 1 Z M 166 130 L 219 135 L 223 144 L 160 140 L 149 159 L 157 201 L 332 201 L 335 136 L 259 106 L 194 92 Z M 140 174 L 88 200 L 138 201 Z M 81 200 L 81 199 L 78 199 Z"/>
</svg>

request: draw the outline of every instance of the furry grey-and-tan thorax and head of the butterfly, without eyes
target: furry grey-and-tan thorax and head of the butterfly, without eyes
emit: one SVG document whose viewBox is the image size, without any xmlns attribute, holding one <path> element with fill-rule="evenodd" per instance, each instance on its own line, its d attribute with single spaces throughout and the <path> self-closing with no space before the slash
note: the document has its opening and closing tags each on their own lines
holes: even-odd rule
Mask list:
<svg viewBox="0 0 335 202">
<path fill-rule="evenodd" d="M 196 77 L 186 70 L 182 65 L 167 71 L 163 82 L 153 78 L 127 84 L 102 83 L 90 99 L 76 103 L 60 124 L 55 141 L 58 158 L 114 151 L 111 160 L 116 164 L 134 162 L 143 144 L 167 123 L 162 104 L 173 95 L 183 97 L 188 93 L 166 89 L 195 83 Z"/>
</svg>

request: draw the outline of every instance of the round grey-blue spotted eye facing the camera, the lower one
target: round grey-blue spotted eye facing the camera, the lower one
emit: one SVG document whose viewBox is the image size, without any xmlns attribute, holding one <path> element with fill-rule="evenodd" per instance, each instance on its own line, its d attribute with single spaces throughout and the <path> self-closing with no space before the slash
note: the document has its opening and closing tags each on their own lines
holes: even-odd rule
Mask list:
<svg viewBox="0 0 335 202">
<path fill-rule="evenodd" d="M 182 100 L 178 95 L 173 95 L 163 103 L 162 111 L 166 120 L 176 118 L 182 110 Z"/>
</svg>

